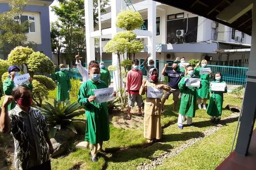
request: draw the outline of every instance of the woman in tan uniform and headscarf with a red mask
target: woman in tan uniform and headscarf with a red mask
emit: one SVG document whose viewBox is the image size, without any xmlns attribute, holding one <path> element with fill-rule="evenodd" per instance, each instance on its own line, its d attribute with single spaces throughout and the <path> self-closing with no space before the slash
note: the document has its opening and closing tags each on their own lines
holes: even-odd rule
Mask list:
<svg viewBox="0 0 256 170">
<path fill-rule="evenodd" d="M 147 88 L 152 87 L 152 89 L 164 89 L 170 90 L 170 88 L 165 84 L 160 84 L 158 81 L 158 73 L 156 68 L 151 68 L 149 70 L 150 77 L 148 80 L 143 79 L 141 89 L 139 89 L 139 94 L 144 95 Z M 154 92 L 159 92 L 158 90 Z M 144 106 L 144 138 L 147 139 L 148 143 L 153 142 L 153 140 L 161 139 L 161 99 L 160 98 L 149 98 L 147 92 L 147 98 L 145 100 Z"/>
</svg>

